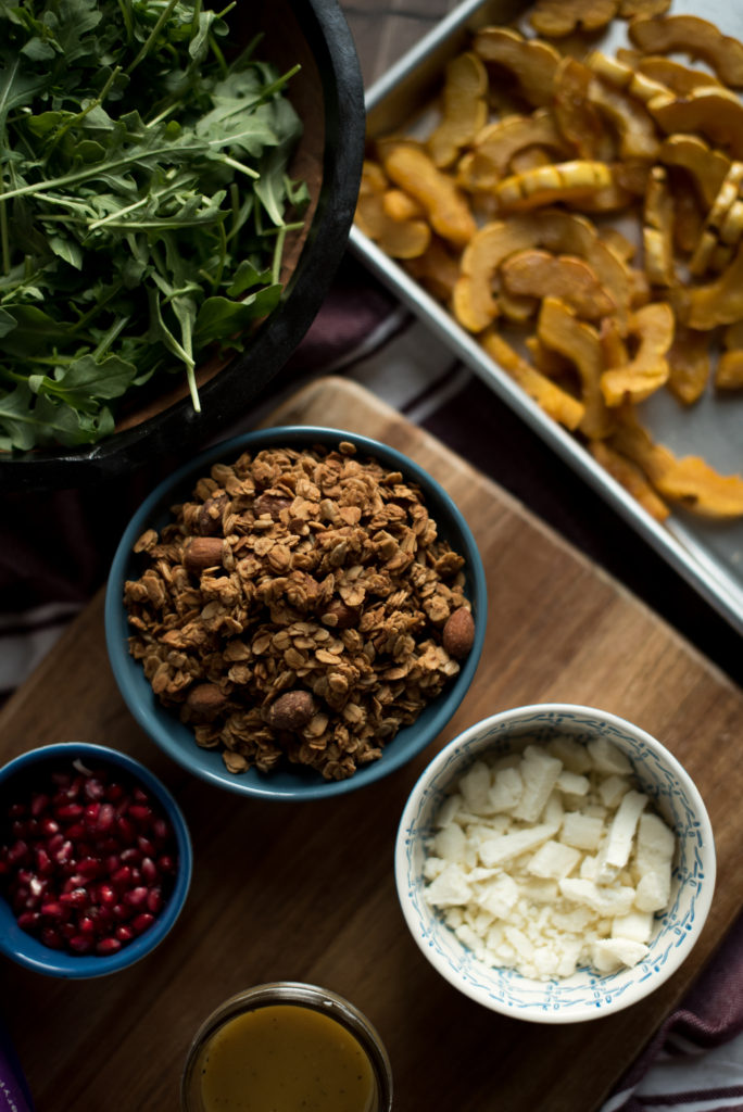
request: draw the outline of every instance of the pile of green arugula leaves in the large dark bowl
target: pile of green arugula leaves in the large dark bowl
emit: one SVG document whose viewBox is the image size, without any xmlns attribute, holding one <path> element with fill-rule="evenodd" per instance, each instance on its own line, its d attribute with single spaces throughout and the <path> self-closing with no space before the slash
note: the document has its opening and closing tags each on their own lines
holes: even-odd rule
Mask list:
<svg viewBox="0 0 743 1112">
<path fill-rule="evenodd" d="M 296 71 L 230 4 L 0 0 L 0 451 L 91 444 L 153 376 L 276 308 Z M 293 222 L 294 221 L 294 222 Z"/>
</svg>

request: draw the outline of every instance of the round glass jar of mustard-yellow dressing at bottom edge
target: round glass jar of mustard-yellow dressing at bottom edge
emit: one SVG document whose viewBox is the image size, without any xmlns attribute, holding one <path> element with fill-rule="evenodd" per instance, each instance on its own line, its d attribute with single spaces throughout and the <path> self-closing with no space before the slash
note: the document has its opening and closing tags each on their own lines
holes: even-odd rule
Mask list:
<svg viewBox="0 0 743 1112">
<path fill-rule="evenodd" d="M 230 996 L 190 1045 L 182 1112 L 300 1103 L 308 1112 L 389 1112 L 393 1079 L 379 1035 L 357 1007 L 317 985 L 276 981 Z"/>
</svg>

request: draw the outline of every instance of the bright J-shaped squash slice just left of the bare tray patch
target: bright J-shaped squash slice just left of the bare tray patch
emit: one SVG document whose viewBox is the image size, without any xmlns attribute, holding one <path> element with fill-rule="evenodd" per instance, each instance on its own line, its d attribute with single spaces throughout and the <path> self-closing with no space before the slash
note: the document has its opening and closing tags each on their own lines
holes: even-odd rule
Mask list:
<svg viewBox="0 0 743 1112">
<path fill-rule="evenodd" d="M 666 358 L 673 342 L 675 318 L 665 301 L 651 301 L 630 317 L 630 335 L 638 341 L 634 358 L 621 367 L 610 367 L 601 378 L 604 400 L 610 407 L 644 401 L 668 379 Z"/>
</svg>

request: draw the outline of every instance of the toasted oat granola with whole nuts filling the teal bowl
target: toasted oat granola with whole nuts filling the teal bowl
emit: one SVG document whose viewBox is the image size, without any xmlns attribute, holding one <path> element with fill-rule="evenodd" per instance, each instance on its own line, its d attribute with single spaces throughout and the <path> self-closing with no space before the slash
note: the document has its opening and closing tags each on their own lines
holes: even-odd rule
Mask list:
<svg viewBox="0 0 743 1112">
<path fill-rule="evenodd" d="M 135 552 L 130 652 L 232 773 L 351 776 L 469 648 L 463 557 L 415 486 L 346 441 L 216 464 Z"/>
</svg>

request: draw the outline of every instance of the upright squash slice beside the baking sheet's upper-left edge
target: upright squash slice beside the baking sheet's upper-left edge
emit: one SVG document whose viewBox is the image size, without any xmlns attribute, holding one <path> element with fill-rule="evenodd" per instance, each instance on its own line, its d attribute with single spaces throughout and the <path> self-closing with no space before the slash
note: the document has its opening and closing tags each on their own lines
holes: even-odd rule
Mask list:
<svg viewBox="0 0 743 1112">
<path fill-rule="evenodd" d="M 487 122 L 487 70 L 473 51 L 453 58 L 445 69 L 442 120 L 426 140 L 437 167 L 450 166 Z"/>
</svg>

